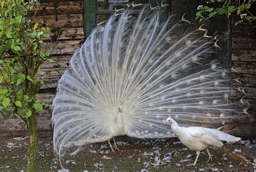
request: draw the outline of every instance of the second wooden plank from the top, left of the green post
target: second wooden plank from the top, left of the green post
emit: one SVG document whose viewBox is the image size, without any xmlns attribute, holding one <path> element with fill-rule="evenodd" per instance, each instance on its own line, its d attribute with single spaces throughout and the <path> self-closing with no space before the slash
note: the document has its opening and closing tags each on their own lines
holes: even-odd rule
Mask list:
<svg viewBox="0 0 256 172">
<path fill-rule="evenodd" d="M 45 15 L 32 19 L 32 23 L 43 23 L 50 28 L 55 27 L 79 27 L 83 26 L 83 16 L 79 14 L 70 15 Z"/>
</svg>

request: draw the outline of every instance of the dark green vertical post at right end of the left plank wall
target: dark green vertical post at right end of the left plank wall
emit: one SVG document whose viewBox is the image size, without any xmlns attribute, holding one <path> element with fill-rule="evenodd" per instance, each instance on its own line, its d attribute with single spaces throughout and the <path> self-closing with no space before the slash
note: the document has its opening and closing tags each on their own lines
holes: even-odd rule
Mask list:
<svg viewBox="0 0 256 172">
<path fill-rule="evenodd" d="M 84 39 L 89 37 L 92 29 L 96 26 L 97 0 L 84 0 Z"/>
</svg>

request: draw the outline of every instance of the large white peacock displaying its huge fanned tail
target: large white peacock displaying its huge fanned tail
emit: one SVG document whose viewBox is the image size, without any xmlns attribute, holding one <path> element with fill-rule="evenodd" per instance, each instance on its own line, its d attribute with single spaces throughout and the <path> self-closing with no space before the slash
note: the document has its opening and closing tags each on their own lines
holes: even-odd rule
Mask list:
<svg viewBox="0 0 256 172">
<path fill-rule="evenodd" d="M 134 17 L 141 6 L 116 11 L 73 54 L 53 101 L 59 156 L 116 136 L 174 136 L 163 124 L 170 115 L 183 123 L 207 123 L 243 113 L 244 102 L 228 97 L 242 90 L 228 87 L 230 71 L 211 57 L 220 49 L 217 36 L 202 27 L 188 30 L 184 17 L 164 22 L 162 6 L 145 5 Z"/>
</svg>

